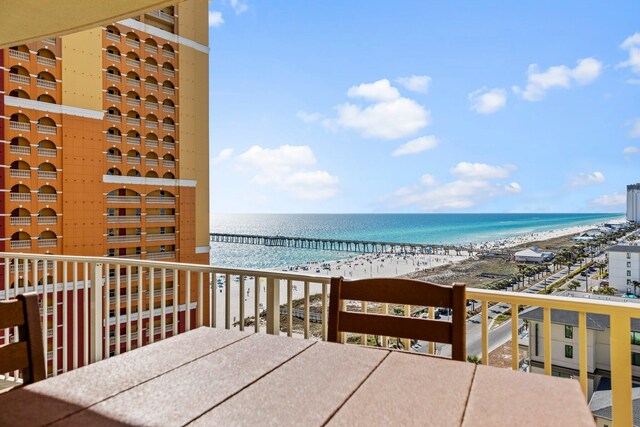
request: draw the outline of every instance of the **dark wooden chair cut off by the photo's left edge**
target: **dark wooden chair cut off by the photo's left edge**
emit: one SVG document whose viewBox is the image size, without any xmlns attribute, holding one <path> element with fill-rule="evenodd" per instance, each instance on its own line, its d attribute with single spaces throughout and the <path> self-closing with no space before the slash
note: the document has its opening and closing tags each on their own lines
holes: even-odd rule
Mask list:
<svg viewBox="0 0 640 427">
<path fill-rule="evenodd" d="M 0 372 L 22 369 L 23 384 L 46 378 L 40 307 L 35 293 L 0 301 L 0 330 L 18 327 L 20 340 L 0 347 Z"/>
</svg>

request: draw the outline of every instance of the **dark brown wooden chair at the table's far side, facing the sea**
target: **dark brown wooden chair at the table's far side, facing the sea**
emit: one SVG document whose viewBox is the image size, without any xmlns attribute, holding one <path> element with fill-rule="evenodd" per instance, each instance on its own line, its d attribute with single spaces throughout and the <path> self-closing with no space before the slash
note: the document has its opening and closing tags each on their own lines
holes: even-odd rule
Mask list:
<svg viewBox="0 0 640 427">
<path fill-rule="evenodd" d="M 453 309 L 451 322 L 341 311 L 344 300 Z M 412 338 L 452 345 L 452 359 L 466 361 L 465 285 L 438 285 L 409 279 L 331 279 L 328 341 L 341 332 Z"/>
</svg>

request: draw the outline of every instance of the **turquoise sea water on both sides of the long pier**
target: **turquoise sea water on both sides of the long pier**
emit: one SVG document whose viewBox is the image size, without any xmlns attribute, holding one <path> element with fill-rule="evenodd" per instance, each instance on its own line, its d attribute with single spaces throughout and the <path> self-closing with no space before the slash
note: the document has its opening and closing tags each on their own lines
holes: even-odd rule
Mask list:
<svg viewBox="0 0 640 427">
<path fill-rule="evenodd" d="M 237 214 L 214 215 L 217 233 L 399 243 L 478 243 L 621 218 L 622 214 Z M 214 243 L 219 266 L 275 268 L 333 260 L 348 252 Z"/>
</svg>

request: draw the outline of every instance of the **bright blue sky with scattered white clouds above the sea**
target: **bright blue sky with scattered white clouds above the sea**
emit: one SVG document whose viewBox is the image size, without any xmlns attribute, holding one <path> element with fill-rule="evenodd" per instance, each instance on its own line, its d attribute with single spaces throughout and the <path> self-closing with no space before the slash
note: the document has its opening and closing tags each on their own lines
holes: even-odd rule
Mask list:
<svg viewBox="0 0 640 427">
<path fill-rule="evenodd" d="M 640 2 L 209 2 L 213 213 L 623 212 Z"/>
</svg>

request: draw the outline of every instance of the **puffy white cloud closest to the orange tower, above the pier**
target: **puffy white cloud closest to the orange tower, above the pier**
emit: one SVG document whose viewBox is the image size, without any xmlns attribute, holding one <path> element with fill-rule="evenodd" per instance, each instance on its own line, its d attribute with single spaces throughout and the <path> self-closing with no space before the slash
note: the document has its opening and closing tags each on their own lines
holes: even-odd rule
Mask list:
<svg viewBox="0 0 640 427">
<path fill-rule="evenodd" d="M 293 198 L 324 200 L 339 192 L 338 177 L 314 169 L 317 161 L 306 145 L 278 148 L 254 145 L 237 160 L 240 170 L 254 173 L 252 184 L 274 187 Z"/>
</svg>

